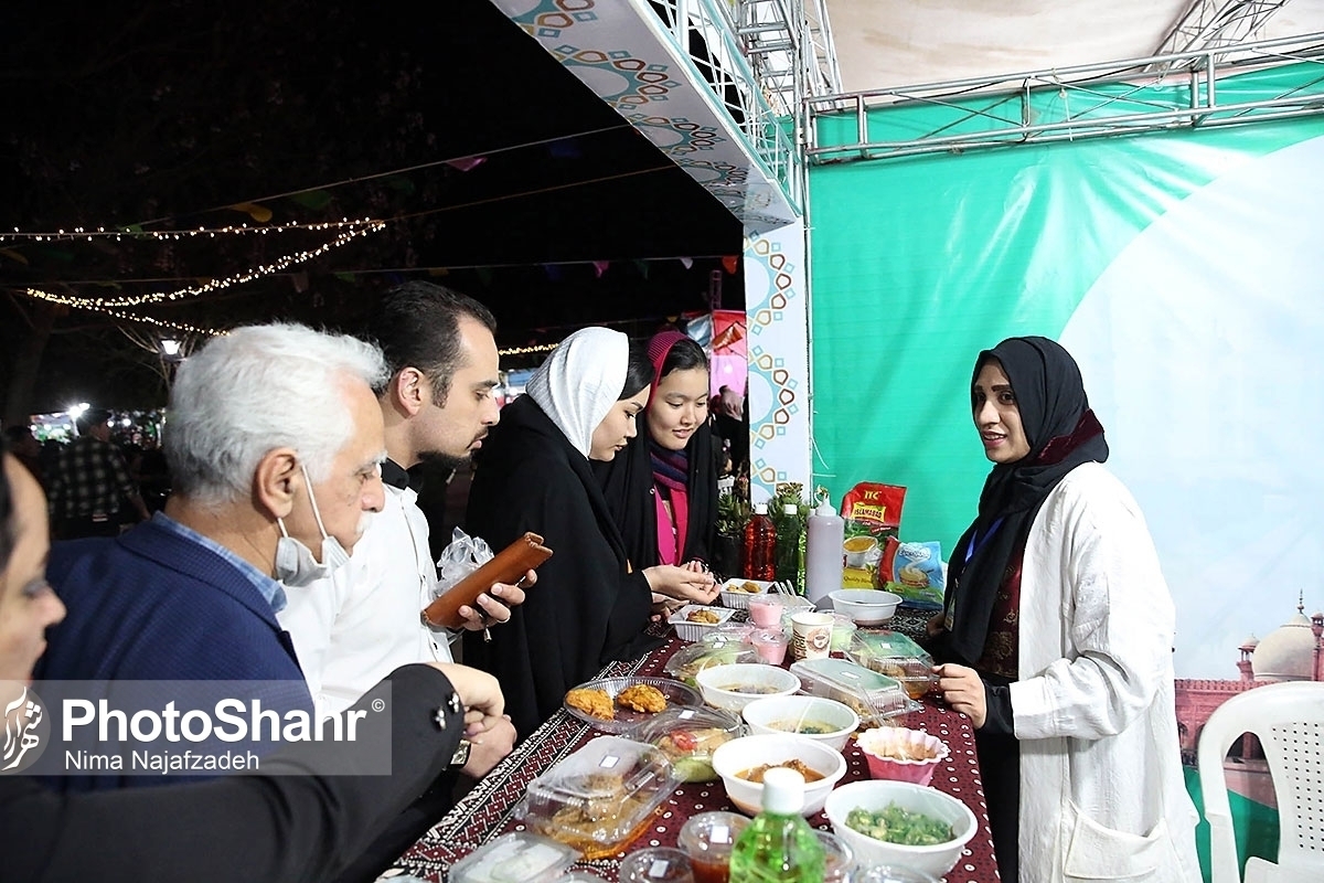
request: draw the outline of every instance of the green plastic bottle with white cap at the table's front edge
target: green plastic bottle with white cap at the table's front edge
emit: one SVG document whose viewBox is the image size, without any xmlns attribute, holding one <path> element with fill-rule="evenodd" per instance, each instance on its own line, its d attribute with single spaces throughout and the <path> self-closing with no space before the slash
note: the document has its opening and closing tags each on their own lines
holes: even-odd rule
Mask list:
<svg viewBox="0 0 1324 883">
<path fill-rule="evenodd" d="M 763 812 L 731 850 L 731 883 L 822 883 L 824 847 L 800 810 L 805 780 L 777 767 L 763 776 Z"/>
</svg>

